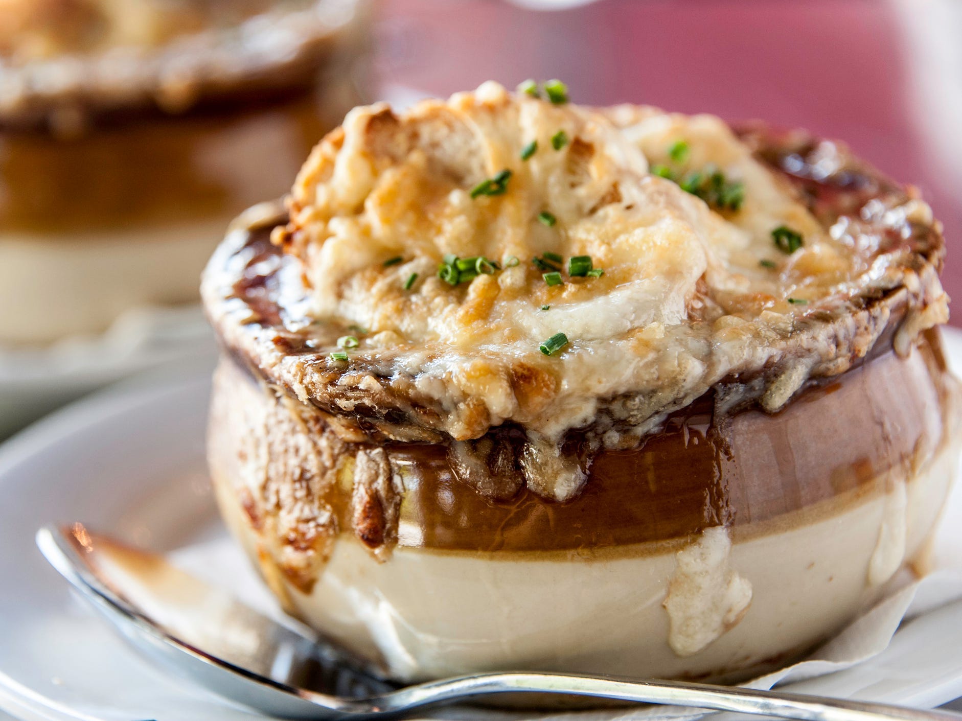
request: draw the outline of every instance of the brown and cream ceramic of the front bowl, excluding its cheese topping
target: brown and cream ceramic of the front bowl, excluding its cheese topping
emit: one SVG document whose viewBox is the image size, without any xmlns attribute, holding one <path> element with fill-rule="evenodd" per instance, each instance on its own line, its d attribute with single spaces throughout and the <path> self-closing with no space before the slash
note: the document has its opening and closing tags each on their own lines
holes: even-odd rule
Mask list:
<svg viewBox="0 0 962 721">
<path fill-rule="evenodd" d="M 285 245 L 293 214 L 241 217 L 204 281 L 223 348 L 210 467 L 229 528 L 285 609 L 401 680 L 490 669 L 731 680 L 797 658 L 900 573 L 924 571 L 958 457 L 956 382 L 938 331 L 917 321 L 941 297 L 937 223 L 865 211 L 912 197 L 841 146 L 754 126 L 738 137 L 824 228 L 856 218 L 859 233 L 887 238 L 882 250 L 907 248 L 911 271 L 844 311 L 805 311 L 797 323 L 818 337 L 819 324 L 866 318 L 872 332 L 847 346 L 832 325 L 844 351 L 777 408 L 764 394 L 728 403 L 752 385 L 730 373 L 631 443 L 570 430 L 557 453 L 584 478 L 562 500 L 530 476 L 493 491 L 460 455 L 468 442 L 490 478 L 517 476 L 523 423 L 466 441 L 443 431 L 455 407 L 413 391 L 402 402 L 404 374 L 368 363 L 364 342 L 343 370 L 329 352 L 349 327 L 298 310 L 308 261 Z"/>
</svg>

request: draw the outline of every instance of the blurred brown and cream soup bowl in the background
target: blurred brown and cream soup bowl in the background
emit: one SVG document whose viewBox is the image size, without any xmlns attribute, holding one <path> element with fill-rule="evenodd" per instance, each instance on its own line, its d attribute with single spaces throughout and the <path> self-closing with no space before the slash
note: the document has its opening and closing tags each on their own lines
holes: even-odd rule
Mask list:
<svg viewBox="0 0 962 721">
<path fill-rule="evenodd" d="M 78 36 L 86 25 L 107 33 L 91 44 L 58 36 L 35 3 L 38 16 L 21 18 L 25 47 L 0 37 L 0 302 L 17 309 L 0 320 L 0 343 L 100 333 L 131 308 L 196 299 L 230 219 L 290 186 L 316 138 L 359 101 L 362 13 L 315 11 L 331 5 L 358 4 L 281 12 L 252 0 L 240 17 L 220 8 L 229 25 L 215 6 L 158 18 L 163 6 L 131 5 L 117 22 L 135 37 L 114 45 L 109 4 L 76 18 Z M 182 33 L 141 37 L 175 19 Z M 21 57 L 37 49 L 34 31 L 56 36 L 43 38 L 53 47 Z"/>
</svg>

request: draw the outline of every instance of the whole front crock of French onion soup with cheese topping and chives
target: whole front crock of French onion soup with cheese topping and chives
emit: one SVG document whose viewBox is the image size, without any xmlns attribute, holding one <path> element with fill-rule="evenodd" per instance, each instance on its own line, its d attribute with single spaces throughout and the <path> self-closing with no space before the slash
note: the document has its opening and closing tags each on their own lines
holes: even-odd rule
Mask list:
<svg viewBox="0 0 962 721">
<path fill-rule="evenodd" d="M 355 109 L 205 271 L 219 507 L 400 681 L 763 672 L 924 569 L 944 251 L 803 132 L 557 83 Z"/>
</svg>

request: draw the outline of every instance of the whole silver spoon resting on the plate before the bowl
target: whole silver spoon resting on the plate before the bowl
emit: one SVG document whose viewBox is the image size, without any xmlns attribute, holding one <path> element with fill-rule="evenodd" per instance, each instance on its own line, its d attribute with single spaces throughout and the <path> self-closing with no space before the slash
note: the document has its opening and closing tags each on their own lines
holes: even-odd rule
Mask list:
<svg viewBox="0 0 962 721">
<path fill-rule="evenodd" d="M 511 672 L 394 686 L 307 629 L 293 631 L 163 557 L 80 524 L 42 528 L 40 551 L 141 651 L 236 703 L 274 716 L 361 719 L 495 694 L 588 696 L 810 721 L 960 721 L 941 711 L 709 684 Z"/>
</svg>

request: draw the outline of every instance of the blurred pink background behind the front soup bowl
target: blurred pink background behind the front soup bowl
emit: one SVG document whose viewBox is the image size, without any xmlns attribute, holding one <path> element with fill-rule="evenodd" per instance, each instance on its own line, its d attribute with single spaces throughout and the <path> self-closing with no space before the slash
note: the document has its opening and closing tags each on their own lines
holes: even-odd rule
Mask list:
<svg viewBox="0 0 962 721">
<path fill-rule="evenodd" d="M 602 0 L 535 12 L 384 0 L 377 13 L 382 83 L 446 95 L 558 77 L 577 102 L 759 117 L 844 139 L 922 188 L 945 224 L 945 285 L 962 304 L 962 3 Z"/>
</svg>

